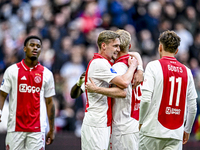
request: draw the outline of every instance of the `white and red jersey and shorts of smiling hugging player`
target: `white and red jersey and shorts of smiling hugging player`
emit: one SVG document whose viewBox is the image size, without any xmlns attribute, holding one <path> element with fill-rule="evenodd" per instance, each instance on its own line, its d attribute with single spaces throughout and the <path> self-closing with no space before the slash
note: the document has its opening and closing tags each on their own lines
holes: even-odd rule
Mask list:
<svg viewBox="0 0 200 150">
<path fill-rule="evenodd" d="M 99 87 L 109 87 L 110 81 L 117 76 L 111 63 L 95 53 L 85 73 L 85 84 L 89 77 Z M 109 146 L 112 122 L 111 98 L 97 93 L 86 92 L 86 108 L 81 128 L 81 148 L 83 150 L 102 150 Z"/>
</svg>

